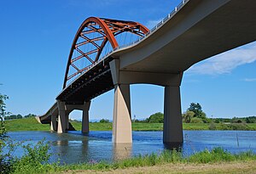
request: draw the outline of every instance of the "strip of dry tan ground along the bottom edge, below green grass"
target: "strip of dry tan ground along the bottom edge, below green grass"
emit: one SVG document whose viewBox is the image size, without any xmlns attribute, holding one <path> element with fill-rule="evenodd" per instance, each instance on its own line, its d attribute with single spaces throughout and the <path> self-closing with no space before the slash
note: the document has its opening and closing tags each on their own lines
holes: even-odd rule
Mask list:
<svg viewBox="0 0 256 174">
<path fill-rule="evenodd" d="M 217 164 L 166 164 L 159 166 L 129 167 L 111 171 L 68 171 L 65 173 L 252 173 L 256 174 L 256 161 Z"/>
</svg>

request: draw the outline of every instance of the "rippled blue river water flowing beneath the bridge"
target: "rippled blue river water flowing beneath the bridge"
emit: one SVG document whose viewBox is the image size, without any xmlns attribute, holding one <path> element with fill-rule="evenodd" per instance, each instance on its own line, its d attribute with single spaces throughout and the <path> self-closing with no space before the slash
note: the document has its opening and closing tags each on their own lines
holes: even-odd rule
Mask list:
<svg viewBox="0 0 256 174">
<path fill-rule="evenodd" d="M 9 137 L 26 143 L 38 143 L 45 138 L 53 153 L 51 161 L 61 163 L 120 160 L 139 154 L 160 153 L 166 149 L 163 132 L 132 132 L 132 144 L 115 145 L 112 132 L 90 132 L 83 135 L 73 131 L 56 132 L 9 132 Z M 189 155 L 203 149 L 222 147 L 232 153 L 253 150 L 256 153 L 256 131 L 183 131 L 183 154 Z M 23 154 L 16 149 L 15 155 Z"/>
</svg>

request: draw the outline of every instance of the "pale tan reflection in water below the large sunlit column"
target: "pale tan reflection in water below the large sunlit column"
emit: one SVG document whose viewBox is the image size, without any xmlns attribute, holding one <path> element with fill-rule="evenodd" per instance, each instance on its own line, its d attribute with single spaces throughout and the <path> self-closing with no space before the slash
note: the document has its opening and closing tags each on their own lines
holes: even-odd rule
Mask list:
<svg viewBox="0 0 256 174">
<path fill-rule="evenodd" d="M 113 160 L 131 157 L 132 143 L 113 143 Z"/>
</svg>

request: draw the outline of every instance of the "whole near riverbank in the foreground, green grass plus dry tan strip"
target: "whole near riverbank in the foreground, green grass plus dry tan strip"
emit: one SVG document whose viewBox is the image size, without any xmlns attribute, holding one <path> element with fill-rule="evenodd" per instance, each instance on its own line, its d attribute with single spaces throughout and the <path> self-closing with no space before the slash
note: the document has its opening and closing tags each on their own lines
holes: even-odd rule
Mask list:
<svg viewBox="0 0 256 174">
<path fill-rule="evenodd" d="M 18 161 L 13 173 L 253 173 L 256 169 L 256 154 L 248 151 L 230 154 L 224 149 L 204 150 L 183 157 L 177 151 L 164 151 L 131 159 L 109 162 L 90 162 L 60 166 L 58 164 L 23 163 Z M 21 163 L 21 164 L 19 164 Z M 22 165 L 22 166 L 21 166 Z M 172 168 L 173 167 L 173 168 Z M 197 171 L 200 170 L 200 171 Z M 194 171 L 194 172 L 191 172 Z M 230 172 L 232 171 L 232 172 Z"/>
</svg>

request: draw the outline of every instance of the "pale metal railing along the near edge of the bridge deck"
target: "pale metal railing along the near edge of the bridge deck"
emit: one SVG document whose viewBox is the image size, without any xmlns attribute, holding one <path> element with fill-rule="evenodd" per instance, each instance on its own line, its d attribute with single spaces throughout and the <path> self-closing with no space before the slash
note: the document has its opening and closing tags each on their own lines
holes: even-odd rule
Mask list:
<svg viewBox="0 0 256 174">
<path fill-rule="evenodd" d="M 137 41 L 134 41 L 134 42 L 130 42 L 130 43 L 127 43 L 127 44 L 124 44 L 122 46 L 119 46 L 118 48 L 113 48 L 113 50 L 111 50 L 110 52 L 108 52 L 106 55 L 104 55 L 102 57 L 102 59 L 99 59 L 97 60 L 94 64 L 90 65 L 88 67 L 87 70 L 84 70 L 84 72 L 81 73 L 80 76 L 84 75 L 84 73 L 86 73 L 88 70 L 90 70 L 91 68 L 93 68 L 94 66 L 96 66 L 98 63 L 104 61 L 104 59 L 108 58 L 108 56 L 121 49 L 121 48 L 127 48 L 127 47 L 132 47 L 132 46 L 135 46 L 138 42 L 141 42 L 142 40 L 144 40 L 146 37 L 148 37 L 150 34 L 152 34 L 154 31 L 156 31 L 158 28 L 160 28 L 160 26 L 164 25 L 166 23 L 167 20 L 170 20 L 175 14 L 177 14 L 177 11 L 181 8 L 183 8 L 183 6 L 185 5 L 185 3 L 188 3 L 189 0 L 183 0 L 181 3 L 179 3 L 177 5 L 176 8 L 174 8 L 172 10 L 172 12 L 170 14 L 168 14 L 163 20 L 161 20 L 157 25 L 155 25 L 150 31 L 148 31 L 147 34 L 145 34 L 144 36 L 140 37 L 139 39 L 137 39 Z M 78 76 L 77 78 L 75 78 L 73 81 L 76 81 L 80 76 Z M 69 84 L 72 84 L 73 81 L 71 81 Z"/>
</svg>

